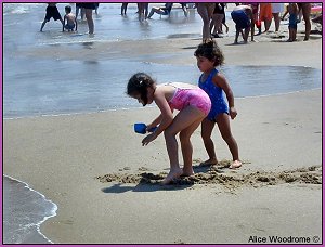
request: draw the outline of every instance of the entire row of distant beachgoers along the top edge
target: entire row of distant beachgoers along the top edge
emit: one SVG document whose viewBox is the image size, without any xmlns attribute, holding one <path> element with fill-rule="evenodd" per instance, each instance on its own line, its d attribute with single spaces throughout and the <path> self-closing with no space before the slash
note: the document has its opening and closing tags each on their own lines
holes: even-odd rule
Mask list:
<svg viewBox="0 0 325 247">
<path fill-rule="evenodd" d="M 121 3 L 120 14 L 127 15 L 127 2 Z M 154 4 L 154 3 L 153 3 Z M 280 24 L 282 21 L 288 18 L 288 40 L 289 42 L 297 41 L 297 25 L 304 22 L 306 31 L 304 40 L 309 40 L 311 34 L 311 22 L 317 24 L 322 28 L 323 10 L 322 3 L 310 2 L 290 2 L 290 3 L 235 3 L 236 6 L 232 10 L 231 16 L 235 23 L 236 36 L 235 43 L 238 43 L 238 38 L 242 36 L 244 43 L 255 41 L 253 37 L 262 32 L 269 32 L 272 21 L 274 22 L 275 32 L 280 31 Z M 86 20 L 89 28 L 89 34 L 94 34 L 93 12 L 98 14 L 100 3 L 93 2 L 78 2 L 75 5 L 75 13 L 73 13 L 72 4 L 65 6 L 65 15 L 62 18 L 56 3 L 48 3 L 47 13 L 40 31 L 50 20 L 61 21 L 62 31 L 77 31 L 78 30 L 78 15 L 80 13 L 81 21 Z M 150 3 L 136 3 L 140 22 L 151 20 L 155 14 L 161 16 L 170 16 L 172 10 L 177 8 L 182 9 L 184 17 L 188 16 L 188 9 L 196 9 L 197 13 L 203 20 L 203 42 L 209 42 L 213 38 L 222 38 L 222 35 L 229 31 L 229 25 L 225 22 L 225 9 L 227 3 L 224 2 L 206 2 L 206 3 L 172 3 L 167 2 L 164 5 L 157 4 L 150 9 Z M 263 30 L 262 30 L 263 26 Z M 256 34 L 258 29 L 258 34 Z M 322 32 L 322 29 L 321 31 Z"/>
</svg>

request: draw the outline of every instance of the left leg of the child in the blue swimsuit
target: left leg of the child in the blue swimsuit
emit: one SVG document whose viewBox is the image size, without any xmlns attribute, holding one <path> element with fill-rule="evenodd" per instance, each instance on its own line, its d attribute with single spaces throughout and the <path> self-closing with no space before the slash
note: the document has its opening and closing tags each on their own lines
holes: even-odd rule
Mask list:
<svg viewBox="0 0 325 247">
<path fill-rule="evenodd" d="M 209 156 L 209 159 L 202 162 L 202 165 L 214 165 L 218 162 L 216 151 L 214 151 L 214 144 L 211 139 L 214 125 L 216 125 L 214 121 L 210 121 L 207 118 L 205 118 L 202 122 L 202 139 L 204 140 L 204 144 Z"/>
</svg>

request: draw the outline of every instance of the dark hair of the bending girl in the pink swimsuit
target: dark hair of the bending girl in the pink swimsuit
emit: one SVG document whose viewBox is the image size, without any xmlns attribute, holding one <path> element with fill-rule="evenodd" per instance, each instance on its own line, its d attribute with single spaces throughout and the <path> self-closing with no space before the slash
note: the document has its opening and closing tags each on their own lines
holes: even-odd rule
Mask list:
<svg viewBox="0 0 325 247">
<path fill-rule="evenodd" d="M 143 106 L 145 106 L 147 104 L 147 88 L 153 87 L 156 81 L 147 74 L 136 73 L 129 80 L 127 93 L 130 96 L 140 94 Z"/>
</svg>

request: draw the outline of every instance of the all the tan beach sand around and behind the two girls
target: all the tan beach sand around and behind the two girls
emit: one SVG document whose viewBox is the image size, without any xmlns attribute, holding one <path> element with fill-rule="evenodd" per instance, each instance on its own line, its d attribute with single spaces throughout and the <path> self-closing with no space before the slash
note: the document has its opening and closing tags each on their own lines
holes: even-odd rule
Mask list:
<svg viewBox="0 0 325 247">
<path fill-rule="evenodd" d="M 287 43 L 271 34 L 249 44 L 233 46 L 234 37 L 217 41 L 226 65 L 322 69 L 322 39 L 298 39 Z M 145 62 L 195 64 L 198 42 L 199 37 L 94 42 L 82 51 L 42 47 L 24 55 L 117 60 L 154 51 L 164 56 Z M 255 236 L 269 244 L 272 236 L 320 244 L 313 237 L 323 236 L 322 89 L 236 98 L 235 105 L 232 130 L 244 161 L 237 170 L 226 168 L 231 155 L 217 130 L 222 162 L 200 167 L 207 155 L 197 130 L 196 174 L 160 186 L 169 168 L 164 138 L 142 147 L 143 135 L 133 132 L 134 122 L 158 114 L 148 107 L 4 119 L 3 173 L 57 205 L 56 216 L 40 229 L 55 244 L 253 244 Z"/>
</svg>

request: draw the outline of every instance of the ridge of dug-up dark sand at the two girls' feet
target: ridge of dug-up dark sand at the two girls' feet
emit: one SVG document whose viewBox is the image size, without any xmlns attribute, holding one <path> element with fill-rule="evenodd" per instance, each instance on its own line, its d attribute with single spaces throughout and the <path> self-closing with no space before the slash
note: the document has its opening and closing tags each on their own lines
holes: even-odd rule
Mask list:
<svg viewBox="0 0 325 247">
<path fill-rule="evenodd" d="M 312 166 L 307 168 L 299 168 L 296 170 L 287 170 L 281 172 L 265 172 L 257 171 L 249 174 L 233 173 L 231 170 L 225 172 L 221 168 L 227 167 L 229 164 L 222 166 L 211 166 L 206 172 L 197 172 L 191 177 L 180 178 L 173 181 L 176 185 L 194 185 L 194 184 L 221 184 L 227 188 L 236 188 L 243 185 L 248 186 L 263 186 L 276 185 L 282 183 L 304 183 L 304 184 L 322 184 L 322 167 Z M 121 170 L 121 169 L 120 169 Z M 159 184 L 167 172 L 154 174 L 147 171 L 148 169 L 140 168 L 134 173 L 110 173 L 96 177 L 102 183 L 118 182 L 118 183 L 133 183 L 133 184 Z"/>
</svg>

